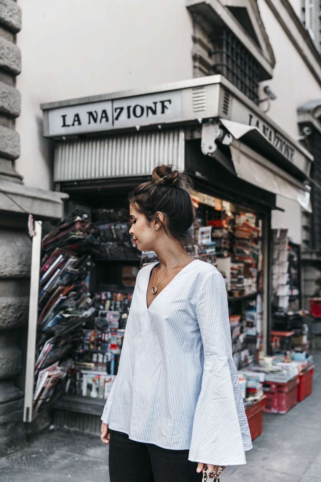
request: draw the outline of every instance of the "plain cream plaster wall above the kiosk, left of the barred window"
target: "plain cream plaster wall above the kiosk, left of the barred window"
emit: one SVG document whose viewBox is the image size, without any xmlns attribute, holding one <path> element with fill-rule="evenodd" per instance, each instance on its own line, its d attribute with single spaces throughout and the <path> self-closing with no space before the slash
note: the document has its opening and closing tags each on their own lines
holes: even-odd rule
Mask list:
<svg viewBox="0 0 321 482">
<path fill-rule="evenodd" d="M 18 0 L 23 69 L 17 171 L 51 186 L 53 145 L 39 104 L 193 77 L 192 20 L 185 0 Z"/>
</svg>

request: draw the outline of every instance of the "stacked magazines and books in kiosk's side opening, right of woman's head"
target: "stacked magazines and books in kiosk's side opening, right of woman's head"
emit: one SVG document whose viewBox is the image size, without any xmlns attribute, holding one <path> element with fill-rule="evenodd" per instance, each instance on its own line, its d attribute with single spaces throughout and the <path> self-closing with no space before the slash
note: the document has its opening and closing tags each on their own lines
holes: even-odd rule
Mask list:
<svg viewBox="0 0 321 482">
<path fill-rule="evenodd" d="M 199 205 L 198 257 L 223 275 L 233 358 L 242 368 L 256 361 L 261 344 L 262 221 L 256 213 L 213 199 L 211 206 Z"/>
</svg>

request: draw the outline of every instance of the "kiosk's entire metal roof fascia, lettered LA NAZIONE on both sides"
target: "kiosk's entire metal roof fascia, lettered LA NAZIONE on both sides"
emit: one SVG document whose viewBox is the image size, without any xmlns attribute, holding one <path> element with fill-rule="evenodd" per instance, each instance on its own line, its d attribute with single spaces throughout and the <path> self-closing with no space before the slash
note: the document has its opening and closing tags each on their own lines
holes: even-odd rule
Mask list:
<svg viewBox="0 0 321 482">
<path fill-rule="evenodd" d="M 59 140 L 153 125 L 195 125 L 198 120 L 222 118 L 254 126 L 275 151 L 303 172 L 306 172 L 306 159 L 313 159 L 273 125 L 259 107 L 244 96 L 241 99 L 236 87 L 220 75 L 182 80 L 154 89 L 153 92 L 127 91 L 42 104 L 44 136 Z M 228 107 L 224 107 L 223 99 L 224 102 L 228 99 Z"/>
</svg>

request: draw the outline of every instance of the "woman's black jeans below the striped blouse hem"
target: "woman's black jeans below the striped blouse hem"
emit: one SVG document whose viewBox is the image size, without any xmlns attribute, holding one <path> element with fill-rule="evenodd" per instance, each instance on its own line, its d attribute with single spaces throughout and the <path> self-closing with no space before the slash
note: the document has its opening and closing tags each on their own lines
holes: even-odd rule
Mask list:
<svg viewBox="0 0 321 482">
<path fill-rule="evenodd" d="M 203 474 L 196 468 L 197 463 L 188 460 L 188 450 L 163 449 L 110 431 L 110 482 L 199 482 Z"/>
</svg>

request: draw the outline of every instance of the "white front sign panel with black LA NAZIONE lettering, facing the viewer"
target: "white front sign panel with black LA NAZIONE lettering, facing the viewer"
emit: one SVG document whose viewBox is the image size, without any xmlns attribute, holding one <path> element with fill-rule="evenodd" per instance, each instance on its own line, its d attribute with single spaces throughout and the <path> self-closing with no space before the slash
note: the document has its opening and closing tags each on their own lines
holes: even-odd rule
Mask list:
<svg viewBox="0 0 321 482">
<path fill-rule="evenodd" d="M 162 124 L 181 118 L 181 91 L 175 90 L 52 109 L 48 123 L 50 136 L 64 136 Z"/>
</svg>

